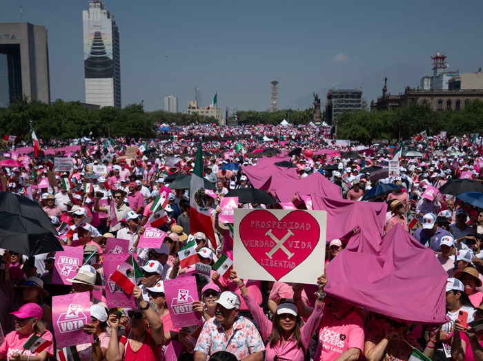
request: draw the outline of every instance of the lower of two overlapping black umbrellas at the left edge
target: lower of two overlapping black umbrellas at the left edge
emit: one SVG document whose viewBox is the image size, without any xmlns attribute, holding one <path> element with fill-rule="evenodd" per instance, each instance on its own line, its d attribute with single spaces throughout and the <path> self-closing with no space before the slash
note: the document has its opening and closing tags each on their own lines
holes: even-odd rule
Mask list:
<svg viewBox="0 0 483 361">
<path fill-rule="evenodd" d="M 59 240 L 37 219 L 3 211 L 0 212 L 0 248 L 26 256 L 63 251 Z"/>
</svg>

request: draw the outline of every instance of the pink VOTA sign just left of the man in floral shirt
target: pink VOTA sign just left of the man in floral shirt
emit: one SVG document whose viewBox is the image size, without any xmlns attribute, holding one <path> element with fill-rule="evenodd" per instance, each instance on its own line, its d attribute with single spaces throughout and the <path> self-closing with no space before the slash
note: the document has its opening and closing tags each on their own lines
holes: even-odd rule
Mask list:
<svg viewBox="0 0 483 361">
<path fill-rule="evenodd" d="M 184 277 L 164 281 L 164 294 L 170 311 L 172 327 L 203 324 L 201 313 L 193 311 L 193 302 L 198 300 L 196 278 Z"/>
</svg>

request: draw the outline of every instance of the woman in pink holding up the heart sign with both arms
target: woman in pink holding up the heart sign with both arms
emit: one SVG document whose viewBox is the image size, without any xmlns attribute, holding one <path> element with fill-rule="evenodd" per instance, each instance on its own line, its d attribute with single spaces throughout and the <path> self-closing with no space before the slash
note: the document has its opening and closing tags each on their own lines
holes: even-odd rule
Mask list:
<svg viewBox="0 0 483 361">
<path fill-rule="evenodd" d="M 262 332 L 262 338 L 267 340 L 270 337 L 270 341 L 266 344 L 266 360 L 304 360 L 308 343 L 319 325 L 320 318 L 322 318 L 322 310 L 324 309 L 322 298 L 317 298 L 315 309 L 303 326 L 302 318 L 297 313 L 297 306 L 293 303 L 278 305 L 277 312 L 270 322 L 262 307 L 257 305 L 255 299 L 248 292 L 243 280 L 237 278 L 236 271 L 231 271 L 230 278 L 242 291 L 242 297 Z M 327 283 L 326 276 L 319 277 L 317 283 L 319 284 L 319 293 L 323 294 Z"/>
</svg>

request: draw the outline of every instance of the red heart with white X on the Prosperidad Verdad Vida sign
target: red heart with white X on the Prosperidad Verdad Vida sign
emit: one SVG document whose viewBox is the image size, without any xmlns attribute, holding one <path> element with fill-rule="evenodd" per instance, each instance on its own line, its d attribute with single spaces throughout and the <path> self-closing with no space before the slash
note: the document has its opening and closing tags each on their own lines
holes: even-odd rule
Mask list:
<svg viewBox="0 0 483 361">
<path fill-rule="evenodd" d="M 256 227 L 257 223 L 259 228 Z M 268 223 L 275 227 L 268 227 Z M 304 223 L 304 230 L 295 229 L 296 223 L 299 225 Z M 292 227 L 290 227 L 290 224 Z M 263 225 L 265 227 L 262 227 Z M 310 231 L 305 230 L 306 225 L 311 226 Z M 288 253 L 293 253 L 290 259 L 280 247 L 272 254 L 270 260 L 266 253 L 270 253 L 276 243 L 273 238 L 266 235 L 269 229 L 277 240 L 282 240 L 284 236 L 288 236 L 283 245 Z M 293 236 L 289 234 L 289 230 L 293 233 Z M 317 220 L 310 213 L 301 210 L 292 211 L 281 220 L 278 220 L 275 214 L 266 210 L 257 210 L 247 214 L 239 223 L 239 237 L 246 251 L 277 281 L 296 269 L 311 255 L 319 242 L 320 232 Z M 306 247 L 302 248 L 302 245 L 306 245 Z M 308 245 L 311 247 L 308 248 Z M 273 262 L 273 265 L 271 262 Z M 324 260 L 321 260 L 321 262 L 324 262 Z M 295 267 L 293 267 L 294 264 Z"/>
</svg>

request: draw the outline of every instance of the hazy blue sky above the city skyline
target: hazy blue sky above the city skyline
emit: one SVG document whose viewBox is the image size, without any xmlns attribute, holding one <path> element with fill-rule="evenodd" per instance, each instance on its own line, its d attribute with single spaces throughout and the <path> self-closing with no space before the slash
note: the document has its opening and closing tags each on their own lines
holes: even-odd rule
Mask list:
<svg viewBox="0 0 483 361">
<path fill-rule="evenodd" d="M 126 1 L 106 0 L 121 43 L 122 105 L 179 111 L 195 86 L 208 105 L 215 92 L 223 112 L 266 110 L 270 81 L 279 81 L 279 105 L 303 109 L 312 92 L 362 87 L 368 103 L 388 89 L 416 87 L 431 73 L 431 54 L 448 56 L 450 70 L 483 67 L 483 2 L 467 1 Z M 3 0 L 0 22 L 48 29 L 51 98 L 85 100 L 84 0 Z M 389 74 L 387 74 L 389 72 Z M 392 81 L 392 82 L 391 82 Z M 324 101 L 325 94 L 319 94 Z"/>
</svg>

